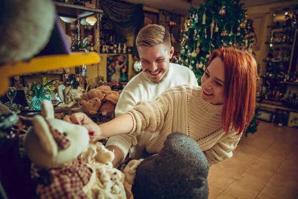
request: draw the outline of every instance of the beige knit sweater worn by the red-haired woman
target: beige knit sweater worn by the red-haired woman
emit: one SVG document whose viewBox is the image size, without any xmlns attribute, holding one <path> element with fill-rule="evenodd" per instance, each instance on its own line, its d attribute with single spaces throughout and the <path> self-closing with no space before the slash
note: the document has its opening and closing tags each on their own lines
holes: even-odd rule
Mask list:
<svg viewBox="0 0 298 199">
<path fill-rule="evenodd" d="M 130 134 L 159 131 L 146 146 L 149 153 L 158 153 L 171 132 L 181 132 L 199 144 L 210 166 L 232 157 L 241 134 L 230 129 L 226 135 L 223 106 L 202 100 L 202 95 L 202 87 L 182 85 L 168 89 L 155 100 L 139 102 L 129 111 L 134 120 Z"/>
</svg>

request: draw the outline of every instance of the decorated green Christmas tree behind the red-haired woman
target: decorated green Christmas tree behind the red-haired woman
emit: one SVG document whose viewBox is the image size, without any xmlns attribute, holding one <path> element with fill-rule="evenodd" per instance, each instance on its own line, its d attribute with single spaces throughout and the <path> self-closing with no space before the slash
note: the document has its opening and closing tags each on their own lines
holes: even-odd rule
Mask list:
<svg viewBox="0 0 298 199">
<path fill-rule="evenodd" d="M 250 48 L 254 42 L 252 20 L 242 6 L 239 0 L 205 0 L 189 10 L 177 63 L 193 70 L 199 85 L 213 50 L 239 43 Z"/>
</svg>

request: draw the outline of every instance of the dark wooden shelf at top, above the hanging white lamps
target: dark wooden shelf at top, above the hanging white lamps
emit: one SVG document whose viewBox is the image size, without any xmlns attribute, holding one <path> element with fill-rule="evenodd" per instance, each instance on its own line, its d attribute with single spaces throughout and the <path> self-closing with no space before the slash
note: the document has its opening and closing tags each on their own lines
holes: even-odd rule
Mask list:
<svg viewBox="0 0 298 199">
<path fill-rule="evenodd" d="M 85 7 L 82 5 L 74 5 L 69 3 L 54 1 L 57 12 L 60 16 L 68 16 L 73 18 L 84 18 L 95 13 L 103 13 L 102 9 Z"/>
</svg>

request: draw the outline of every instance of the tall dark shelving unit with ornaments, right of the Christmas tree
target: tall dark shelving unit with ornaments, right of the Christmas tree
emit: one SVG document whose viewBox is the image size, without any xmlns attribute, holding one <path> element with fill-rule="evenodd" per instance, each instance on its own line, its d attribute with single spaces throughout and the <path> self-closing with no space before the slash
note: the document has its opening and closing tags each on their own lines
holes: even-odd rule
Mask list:
<svg viewBox="0 0 298 199">
<path fill-rule="evenodd" d="M 266 70 L 261 75 L 261 101 L 273 105 L 282 105 L 287 94 L 288 84 L 296 85 L 294 76 L 298 75 L 291 70 L 290 57 L 293 56 L 295 43 L 295 27 L 267 26 L 270 28 L 270 38 L 265 44 L 270 45 L 270 52 L 263 59 L 267 63 Z M 290 78 L 291 76 L 291 78 Z M 297 84 L 298 85 L 298 84 Z"/>
</svg>

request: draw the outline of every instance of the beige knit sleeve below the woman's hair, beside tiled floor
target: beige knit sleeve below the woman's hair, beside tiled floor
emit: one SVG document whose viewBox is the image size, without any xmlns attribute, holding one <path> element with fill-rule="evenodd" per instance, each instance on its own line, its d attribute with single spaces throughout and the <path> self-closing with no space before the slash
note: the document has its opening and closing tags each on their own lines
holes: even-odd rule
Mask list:
<svg viewBox="0 0 298 199">
<path fill-rule="evenodd" d="M 211 149 L 204 151 L 209 167 L 218 164 L 233 156 L 233 150 L 236 148 L 242 133 L 238 134 L 231 130 L 229 136 L 215 144 Z"/>
</svg>

